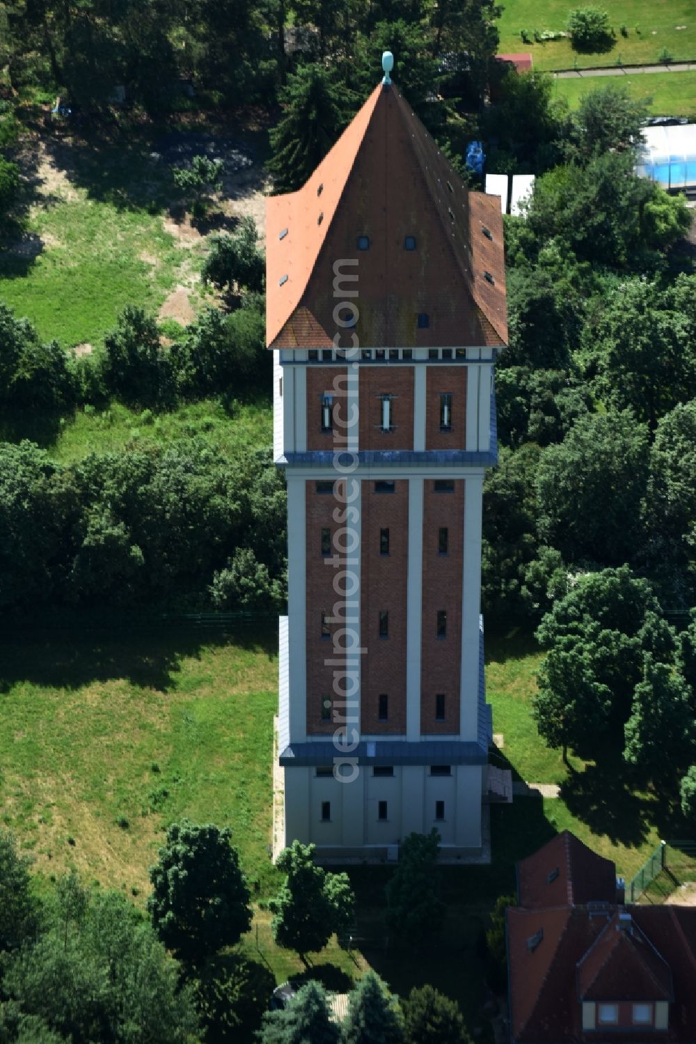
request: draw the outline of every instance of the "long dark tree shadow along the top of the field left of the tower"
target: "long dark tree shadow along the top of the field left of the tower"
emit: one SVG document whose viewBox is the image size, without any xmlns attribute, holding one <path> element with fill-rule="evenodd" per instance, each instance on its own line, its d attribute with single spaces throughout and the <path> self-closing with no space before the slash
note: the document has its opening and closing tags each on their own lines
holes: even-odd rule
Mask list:
<svg viewBox="0 0 696 1044">
<path fill-rule="evenodd" d="M 67 624 L 67 621 L 66 621 Z M 0 693 L 19 683 L 78 689 L 93 682 L 125 679 L 133 685 L 169 692 L 184 657 L 200 658 L 203 647 L 234 644 L 272 658 L 278 630 L 268 620 L 207 630 L 191 624 L 170 628 L 146 623 L 121 630 L 87 630 L 72 621 L 66 630 L 5 631 L 0 643 Z"/>
</svg>

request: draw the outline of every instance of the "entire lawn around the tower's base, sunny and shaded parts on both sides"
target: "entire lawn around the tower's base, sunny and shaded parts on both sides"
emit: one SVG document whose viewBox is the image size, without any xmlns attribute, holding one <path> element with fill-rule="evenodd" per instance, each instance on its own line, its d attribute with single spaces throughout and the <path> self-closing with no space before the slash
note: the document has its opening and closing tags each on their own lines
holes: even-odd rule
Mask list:
<svg viewBox="0 0 696 1044">
<path fill-rule="evenodd" d="M 33 856 L 40 882 L 74 865 L 88 883 L 122 888 L 142 903 L 167 823 L 187 815 L 229 825 L 255 899 L 243 946 L 279 982 L 302 974 L 298 957 L 273 944 L 263 902 L 279 884 L 268 856 L 274 625 L 231 634 L 64 626 L 0 643 L 0 822 Z M 533 781 L 562 782 L 562 799 L 491 807 L 493 864 L 440 871 L 448 917 L 432 951 L 415 954 L 389 940 L 391 869 L 353 867 L 355 950 L 333 941 L 311 958 L 312 974 L 339 992 L 368 967 L 402 996 L 436 982 L 461 1003 L 481 1044 L 493 1041 L 481 1013 L 481 939 L 496 898 L 514 889 L 515 862 L 568 828 L 630 877 L 658 839 L 653 800 L 619 780 L 607 787 L 593 765 L 565 779 L 558 755 L 535 735 L 529 701 L 541 654 L 533 642 L 515 628 L 489 634 L 487 656 L 502 755 Z"/>
</svg>

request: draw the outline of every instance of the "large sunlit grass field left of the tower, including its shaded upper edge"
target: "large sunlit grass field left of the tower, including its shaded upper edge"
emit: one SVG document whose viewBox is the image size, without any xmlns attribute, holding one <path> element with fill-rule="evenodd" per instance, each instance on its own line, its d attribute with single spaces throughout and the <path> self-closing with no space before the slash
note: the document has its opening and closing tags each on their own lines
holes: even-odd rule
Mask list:
<svg viewBox="0 0 696 1044">
<path fill-rule="evenodd" d="M 147 894 L 163 827 L 186 815 L 232 826 L 249 878 L 274 884 L 275 641 L 273 621 L 5 635 L 0 814 L 34 871 Z"/>
</svg>

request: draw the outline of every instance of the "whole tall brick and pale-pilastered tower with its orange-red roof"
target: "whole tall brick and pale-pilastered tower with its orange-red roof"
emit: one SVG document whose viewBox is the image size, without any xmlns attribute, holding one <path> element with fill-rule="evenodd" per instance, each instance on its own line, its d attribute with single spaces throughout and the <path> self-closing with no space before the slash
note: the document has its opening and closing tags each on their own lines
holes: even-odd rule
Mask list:
<svg viewBox="0 0 696 1044">
<path fill-rule="evenodd" d="M 267 201 L 283 836 L 481 850 L 490 709 L 481 502 L 507 337 L 500 203 L 380 85 L 307 184 Z"/>
</svg>

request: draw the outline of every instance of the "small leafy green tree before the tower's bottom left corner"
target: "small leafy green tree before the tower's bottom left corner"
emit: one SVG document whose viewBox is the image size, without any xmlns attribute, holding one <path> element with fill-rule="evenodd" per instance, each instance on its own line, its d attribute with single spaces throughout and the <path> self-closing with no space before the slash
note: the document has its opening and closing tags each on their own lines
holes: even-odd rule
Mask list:
<svg viewBox="0 0 696 1044">
<path fill-rule="evenodd" d="M 273 914 L 273 939 L 279 946 L 306 954 L 322 950 L 334 932 L 353 919 L 355 896 L 347 874 L 328 874 L 314 862 L 315 845 L 294 840 L 275 861 L 286 875 L 278 896 L 268 904 Z"/>
</svg>

